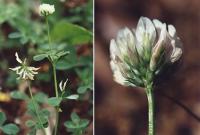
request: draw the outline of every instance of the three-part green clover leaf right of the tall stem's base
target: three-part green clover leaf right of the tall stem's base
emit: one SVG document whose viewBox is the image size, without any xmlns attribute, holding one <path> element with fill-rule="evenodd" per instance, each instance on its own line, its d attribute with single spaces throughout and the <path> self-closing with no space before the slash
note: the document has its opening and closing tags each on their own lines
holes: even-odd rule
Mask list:
<svg viewBox="0 0 200 135">
<path fill-rule="evenodd" d="M 69 132 L 72 132 L 73 135 L 82 135 L 87 126 L 89 125 L 89 120 L 81 119 L 76 113 L 71 114 L 71 120 L 66 121 L 64 126 Z"/>
</svg>

